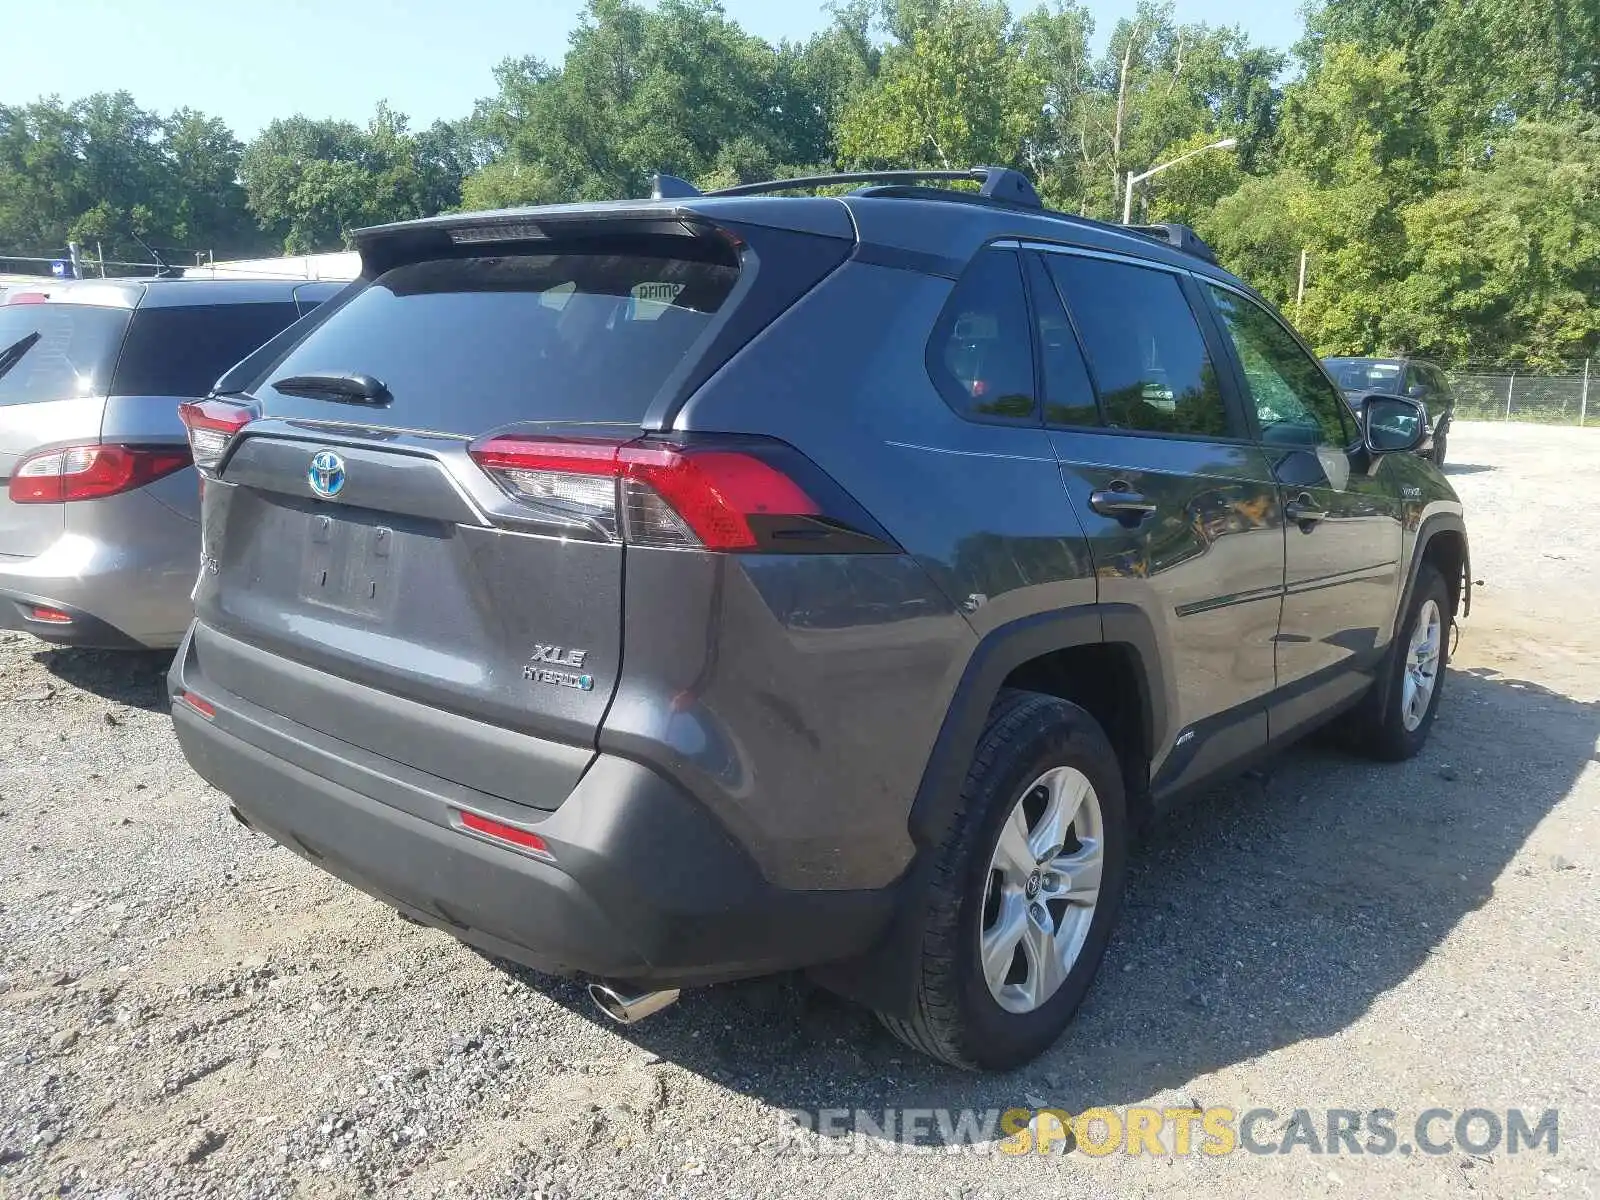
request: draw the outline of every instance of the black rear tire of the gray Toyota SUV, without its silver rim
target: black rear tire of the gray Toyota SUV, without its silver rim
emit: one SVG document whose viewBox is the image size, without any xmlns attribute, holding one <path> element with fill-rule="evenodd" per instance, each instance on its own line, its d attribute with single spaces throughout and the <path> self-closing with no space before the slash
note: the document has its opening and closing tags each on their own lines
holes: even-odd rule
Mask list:
<svg viewBox="0 0 1600 1200">
<path fill-rule="evenodd" d="M 1000 1006 L 984 981 L 979 931 L 1002 822 L 1029 786 L 1074 766 L 1101 806 L 1104 862 L 1088 936 L 1059 990 L 1030 1013 Z M 960 808 L 939 846 L 926 896 L 917 1000 L 909 1019 L 880 1013 L 906 1045 L 968 1070 L 1010 1070 L 1061 1037 L 1106 954 L 1128 862 L 1128 810 L 1117 754 L 1099 723 L 1054 696 L 1005 691 L 973 754 Z M 1032 894 L 1032 893 L 1030 893 Z"/>
</svg>

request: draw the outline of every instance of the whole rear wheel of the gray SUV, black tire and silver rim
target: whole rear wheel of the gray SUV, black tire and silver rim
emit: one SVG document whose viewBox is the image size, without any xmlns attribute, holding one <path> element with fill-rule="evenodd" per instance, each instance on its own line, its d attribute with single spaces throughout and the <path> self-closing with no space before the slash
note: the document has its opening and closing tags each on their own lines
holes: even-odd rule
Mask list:
<svg viewBox="0 0 1600 1200">
<path fill-rule="evenodd" d="M 1056 696 L 1003 691 L 930 850 L 914 1000 L 880 1010 L 883 1024 L 966 1069 L 1042 1054 L 1099 970 L 1128 842 L 1122 763 L 1099 722 Z"/>
</svg>

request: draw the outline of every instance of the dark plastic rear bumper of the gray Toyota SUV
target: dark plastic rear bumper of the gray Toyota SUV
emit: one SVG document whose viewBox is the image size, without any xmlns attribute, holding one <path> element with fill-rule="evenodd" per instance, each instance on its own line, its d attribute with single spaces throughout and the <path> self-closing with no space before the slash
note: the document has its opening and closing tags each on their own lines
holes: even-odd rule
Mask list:
<svg viewBox="0 0 1600 1200">
<path fill-rule="evenodd" d="M 490 954 L 643 986 L 720 982 L 866 950 L 893 890 L 790 891 L 762 878 L 702 806 L 650 768 L 598 755 L 544 813 L 470 792 L 171 674 L 178 741 L 240 816 L 330 874 Z M 202 717 L 181 696 L 214 706 Z M 544 861 L 461 829 L 509 821 Z"/>
</svg>

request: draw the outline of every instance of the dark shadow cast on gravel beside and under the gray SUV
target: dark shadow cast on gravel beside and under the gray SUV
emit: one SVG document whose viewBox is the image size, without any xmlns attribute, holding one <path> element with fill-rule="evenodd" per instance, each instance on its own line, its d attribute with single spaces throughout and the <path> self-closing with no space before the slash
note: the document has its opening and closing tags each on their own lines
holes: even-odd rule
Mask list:
<svg viewBox="0 0 1600 1200">
<path fill-rule="evenodd" d="M 576 984 L 539 986 L 778 1109 L 1082 1112 L 1174 1088 L 1203 1106 L 1195 1077 L 1338 1034 L 1402 984 L 1488 901 L 1595 752 L 1600 704 L 1490 670 L 1453 670 L 1446 702 L 1411 763 L 1307 744 L 1158 826 L 1075 1024 L 1013 1075 L 933 1064 L 792 978 L 691 992 L 635 1027 L 606 1021 Z"/>
</svg>

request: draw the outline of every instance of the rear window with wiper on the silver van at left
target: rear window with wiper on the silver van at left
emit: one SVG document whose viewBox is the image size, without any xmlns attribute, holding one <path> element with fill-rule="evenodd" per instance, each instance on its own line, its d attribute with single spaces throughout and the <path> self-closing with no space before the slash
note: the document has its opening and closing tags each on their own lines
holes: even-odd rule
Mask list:
<svg viewBox="0 0 1600 1200">
<path fill-rule="evenodd" d="M 104 395 L 126 309 L 0 304 L 0 408 Z"/>
</svg>

